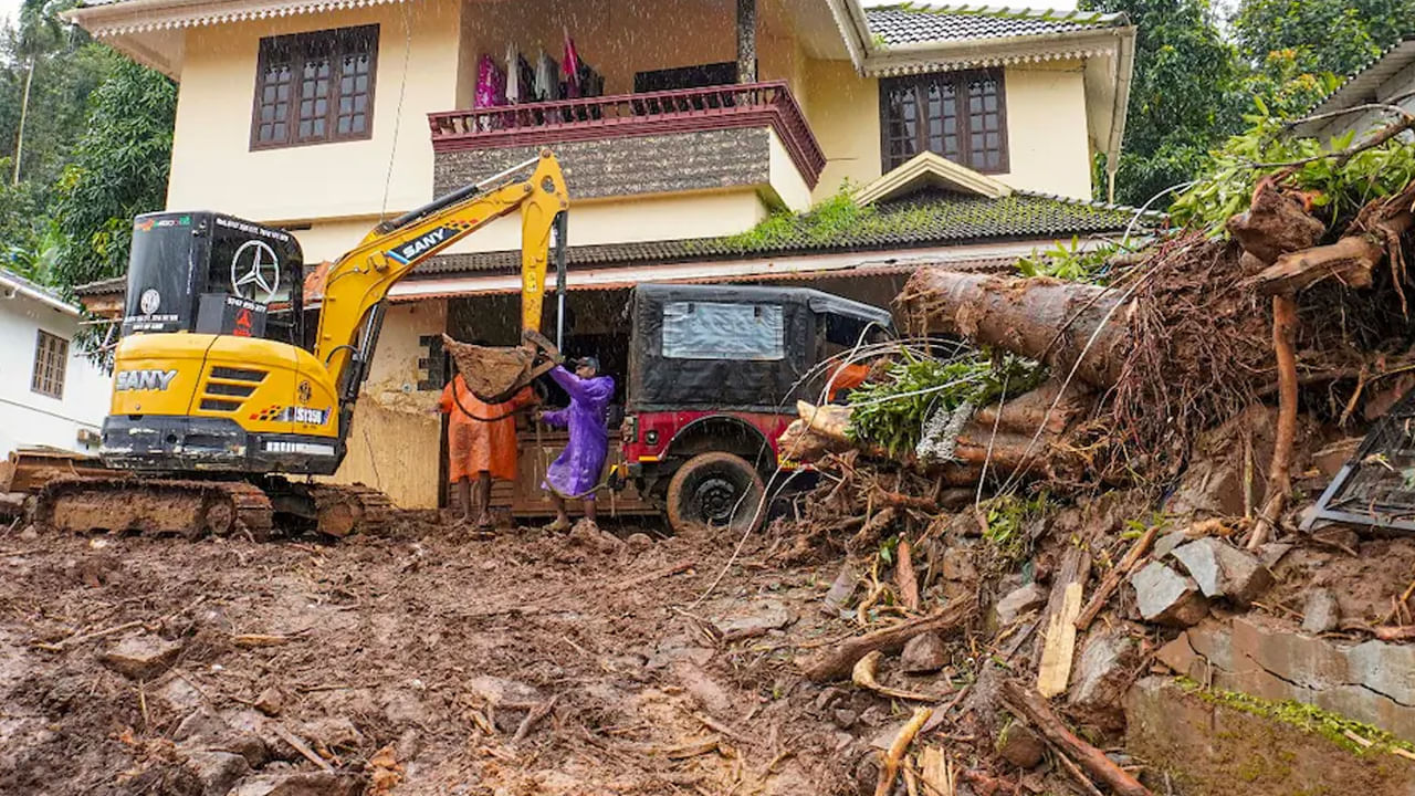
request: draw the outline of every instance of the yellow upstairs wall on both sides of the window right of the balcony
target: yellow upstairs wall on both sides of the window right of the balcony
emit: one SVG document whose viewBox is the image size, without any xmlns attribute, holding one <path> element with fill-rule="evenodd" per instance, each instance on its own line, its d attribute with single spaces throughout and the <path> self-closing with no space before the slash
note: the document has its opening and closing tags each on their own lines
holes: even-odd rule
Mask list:
<svg viewBox="0 0 1415 796">
<path fill-rule="evenodd" d="M 1091 198 L 1091 149 L 1081 62 L 1009 67 L 1003 72 L 1009 170 L 1015 187 Z M 848 61 L 811 59 L 805 68 L 807 120 L 825 150 L 814 191 L 821 201 L 849 180 L 867 184 L 882 173 L 879 79 L 862 78 Z"/>
</svg>

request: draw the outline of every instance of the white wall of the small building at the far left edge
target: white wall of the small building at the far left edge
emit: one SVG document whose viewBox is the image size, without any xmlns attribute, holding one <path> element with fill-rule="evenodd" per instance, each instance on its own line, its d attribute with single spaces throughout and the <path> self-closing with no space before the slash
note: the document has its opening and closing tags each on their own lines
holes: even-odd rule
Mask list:
<svg viewBox="0 0 1415 796">
<path fill-rule="evenodd" d="M 30 390 L 38 330 L 69 340 L 64 398 Z M 81 428 L 99 431 L 108 414 L 112 377 L 72 343 L 78 319 L 47 305 L 0 293 L 0 456 L 21 446 L 82 450 Z"/>
</svg>

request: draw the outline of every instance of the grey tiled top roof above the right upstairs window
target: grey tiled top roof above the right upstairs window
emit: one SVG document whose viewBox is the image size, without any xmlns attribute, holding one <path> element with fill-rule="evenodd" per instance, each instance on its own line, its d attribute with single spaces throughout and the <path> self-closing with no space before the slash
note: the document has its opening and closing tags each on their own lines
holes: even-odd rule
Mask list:
<svg viewBox="0 0 1415 796">
<path fill-rule="evenodd" d="M 870 25 L 870 33 L 886 47 L 1073 33 L 1107 28 L 1124 20 L 1119 14 L 1094 11 L 1033 11 L 995 6 L 935 6 L 925 3 L 899 3 L 866 8 L 865 18 Z"/>
</svg>

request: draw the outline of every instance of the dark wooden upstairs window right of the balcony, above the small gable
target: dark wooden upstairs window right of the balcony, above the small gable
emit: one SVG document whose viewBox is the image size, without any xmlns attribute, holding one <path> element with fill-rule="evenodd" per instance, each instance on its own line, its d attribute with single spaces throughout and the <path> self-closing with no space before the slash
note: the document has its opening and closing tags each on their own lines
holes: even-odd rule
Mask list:
<svg viewBox="0 0 1415 796">
<path fill-rule="evenodd" d="M 1007 170 L 1002 71 L 937 72 L 880 81 L 884 170 L 932 152 L 975 171 Z"/>
</svg>

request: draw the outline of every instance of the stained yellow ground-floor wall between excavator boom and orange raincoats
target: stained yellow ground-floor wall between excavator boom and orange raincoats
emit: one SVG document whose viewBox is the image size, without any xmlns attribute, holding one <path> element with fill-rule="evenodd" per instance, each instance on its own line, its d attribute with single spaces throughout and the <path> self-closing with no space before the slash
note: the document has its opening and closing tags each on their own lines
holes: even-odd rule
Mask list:
<svg viewBox="0 0 1415 796">
<path fill-rule="evenodd" d="M 419 390 L 427 356 L 422 337 L 447 327 L 443 300 L 388 310 L 368 381 L 354 408 L 348 455 L 337 483 L 382 490 L 400 508 L 436 508 L 441 466 L 441 419 L 433 411 L 439 391 Z"/>
</svg>

